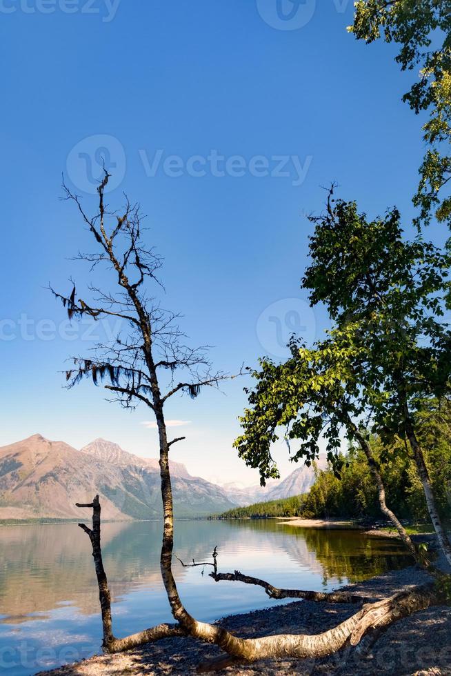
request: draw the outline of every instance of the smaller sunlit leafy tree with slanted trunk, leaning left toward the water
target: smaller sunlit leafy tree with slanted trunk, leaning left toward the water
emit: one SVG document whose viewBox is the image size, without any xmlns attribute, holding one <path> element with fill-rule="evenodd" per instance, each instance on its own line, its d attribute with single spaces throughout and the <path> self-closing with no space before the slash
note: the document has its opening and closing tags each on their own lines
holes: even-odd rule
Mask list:
<svg viewBox="0 0 451 676">
<path fill-rule="evenodd" d="M 354 376 L 352 362 L 355 350 L 352 344 L 338 344 L 333 335 L 314 350 L 291 345 L 292 358 L 285 364 L 273 364 L 261 360 L 261 371 L 254 371 L 257 386 L 249 392 L 252 408 L 241 418 L 244 434 L 235 446 L 246 463 L 259 468 L 261 483 L 268 477 L 278 475 L 272 459 L 274 441 L 279 439 L 279 427 L 285 428 L 288 441 L 297 440 L 299 448 L 292 460 L 305 460 L 311 465 L 319 455 L 321 439 L 325 440 L 328 460 L 337 477 L 341 476 L 345 461 L 340 453 L 343 437 L 356 441 L 365 454 L 372 486 L 379 497 L 379 506 L 397 528 L 412 555 L 417 550 L 396 515 L 388 508 L 381 471 L 374 458 L 368 434 L 361 425 L 361 419 L 370 415 L 368 397 Z M 310 491 L 305 504 L 305 516 L 328 516 L 337 513 L 337 481 L 321 473 Z M 345 484 L 348 486 L 348 484 Z M 375 496 L 374 496 L 375 497 Z M 350 488 L 350 501 L 365 502 L 361 492 L 361 481 Z M 363 509 L 357 510 L 359 515 Z M 418 558 L 418 557 L 417 557 Z"/>
</svg>

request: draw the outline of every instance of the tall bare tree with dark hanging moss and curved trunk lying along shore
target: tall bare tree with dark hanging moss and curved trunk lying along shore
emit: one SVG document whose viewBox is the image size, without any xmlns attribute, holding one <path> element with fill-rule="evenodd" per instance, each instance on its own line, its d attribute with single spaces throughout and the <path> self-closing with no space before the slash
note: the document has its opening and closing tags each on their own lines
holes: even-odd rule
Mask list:
<svg viewBox="0 0 451 676">
<path fill-rule="evenodd" d="M 66 307 L 70 319 L 88 316 L 99 321 L 104 317 L 117 317 L 123 320 L 127 330 L 125 336 L 119 334 L 110 343 L 99 344 L 90 358 L 76 357 L 74 366 L 68 370 L 66 377 L 69 387 L 86 377 L 92 379 L 94 384 L 106 381 L 104 387 L 112 393 L 113 401 L 119 401 L 126 408 L 134 408 L 139 403 L 145 404 L 154 414 L 159 434 L 164 519 L 160 567 L 172 615 L 179 624 L 180 634 L 177 628 L 177 635 L 188 634 L 201 641 L 217 644 L 227 653 L 226 657 L 203 665 L 201 669 L 223 668 L 237 660 L 331 655 L 348 642 L 357 644 L 371 628 L 380 628 L 437 602 L 441 595 L 436 587 L 416 588 L 384 599 L 383 602 L 364 606 L 341 625 L 317 636 L 277 635 L 241 639 L 221 626 L 199 622 L 190 615 L 181 601 L 172 573 L 174 517 L 169 455 L 172 445 L 181 441 L 181 438 L 168 439 L 165 406 L 178 393 L 188 393 L 194 398 L 202 388 L 217 388 L 230 376 L 222 372 L 212 372 L 205 348 L 192 349 L 184 346 L 183 334 L 174 324 L 177 315 L 165 312 L 152 297 L 148 297 L 145 283 L 152 281 L 160 284 L 157 273 L 161 268 L 161 259 L 143 244 L 139 205 L 132 205 L 127 201 L 125 209 L 120 213 L 108 210 L 105 203 L 108 179 L 108 172 L 105 172 L 98 188 L 99 208 L 93 217 L 88 217 L 77 195 L 72 194 L 66 186 L 64 189 L 66 198 L 77 205 L 98 246 L 94 254 L 79 254 L 78 258 L 88 261 L 92 267 L 106 264 L 113 272 L 119 291 L 111 293 L 91 286 L 90 291 L 94 297 L 92 301 L 79 297 L 75 285 L 68 295 L 54 290 L 52 292 Z M 164 372 L 169 373 L 170 377 L 166 390 L 162 391 Z M 94 508 L 94 502 L 92 506 Z M 95 508 L 97 510 L 97 504 Z M 108 610 L 108 583 L 101 565 L 100 532 L 93 525 L 88 535 L 93 544 L 99 594 L 103 604 L 106 650 L 136 645 L 137 642 L 146 640 L 146 632 L 139 635 L 140 639 L 123 639 L 128 644 L 120 641 L 119 644 L 114 643 L 116 639 L 112 634 L 111 613 Z M 154 639 L 157 629 L 147 630 L 147 637 Z M 172 630 L 176 631 L 175 628 Z"/>
</svg>

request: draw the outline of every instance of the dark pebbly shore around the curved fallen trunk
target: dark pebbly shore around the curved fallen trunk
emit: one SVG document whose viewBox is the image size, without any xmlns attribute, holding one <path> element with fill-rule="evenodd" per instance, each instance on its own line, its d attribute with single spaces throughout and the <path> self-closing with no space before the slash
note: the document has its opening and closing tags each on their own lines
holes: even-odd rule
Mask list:
<svg viewBox="0 0 451 676">
<path fill-rule="evenodd" d="M 428 539 L 433 544 L 432 537 L 421 539 Z M 439 558 L 439 565 L 445 568 L 442 558 Z M 343 590 L 352 590 L 376 601 L 428 579 L 427 573 L 411 566 L 349 585 Z M 317 634 L 337 626 L 356 610 L 357 606 L 351 604 L 301 601 L 243 615 L 230 615 L 219 620 L 219 624 L 249 638 L 276 633 Z M 47 676 L 186 676 L 196 673 L 200 662 L 219 654 L 216 646 L 194 639 L 167 639 L 128 653 L 100 655 L 45 673 Z M 261 673 L 268 676 L 348 676 L 350 673 L 359 676 L 451 675 L 451 611 L 449 606 L 437 606 L 402 619 L 390 626 L 365 656 L 349 648 L 327 659 L 265 660 L 253 665 L 230 667 L 221 673 L 230 676 L 257 676 Z"/>
</svg>

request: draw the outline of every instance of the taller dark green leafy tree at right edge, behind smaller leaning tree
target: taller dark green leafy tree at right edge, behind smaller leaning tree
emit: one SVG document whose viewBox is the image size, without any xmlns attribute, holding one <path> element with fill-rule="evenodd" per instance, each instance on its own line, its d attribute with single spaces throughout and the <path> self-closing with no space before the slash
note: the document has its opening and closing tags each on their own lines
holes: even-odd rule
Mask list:
<svg viewBox="0 0 451 676">
<path fill-rule="evenodd" d="M 334 339 L 354 348 L 352 372 L 371 408 L 372 431 L 410 444 L 451 562 L 417 425 L 424 403 L 450 392 L 451 334 L 443 319 L 450 257 L 420 236 L 403 239 L 397 210 L 368 221 L 354 202 L 334 202 L 332 192 L 325 215 L 314 222 L 303 285 L 314 304 L 327 306 Z"/>
</svg>

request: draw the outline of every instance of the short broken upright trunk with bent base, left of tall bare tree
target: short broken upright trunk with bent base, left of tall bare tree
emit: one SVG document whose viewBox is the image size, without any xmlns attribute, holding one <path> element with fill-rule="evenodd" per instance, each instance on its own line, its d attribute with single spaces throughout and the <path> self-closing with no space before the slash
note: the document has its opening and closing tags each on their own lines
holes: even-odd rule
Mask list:
<svg viewBox="0 0 451 676">
<path fill-rule="evenodd" d="M 79 527 L 87 533 L 92 544 L 92 557 L 94 558 L 97 584 L 99 585 L 99 600 L 103 628 L 102 647 L 104 652 L 119 653 L 123 650 L 136 648 L 137 646 L 159 641 L 161 639 L 174 636 L 186 636 L 186 630 L 179 624 L 159 624 L 158 626 L 146 629 L 137 634 L 132 634 L 123 639 L 117 639 L 114 636 L 112 631 L 111 594 L 105 568 L 103 568 L 100 544 L 101 506 L 99 496 L 96 495 L 90 504 L 80 504 L 77 502 L 76 506 L 92 508 L 92 528 L 88 528 L 86 524 L 79 524 Z"/>
</svg>

